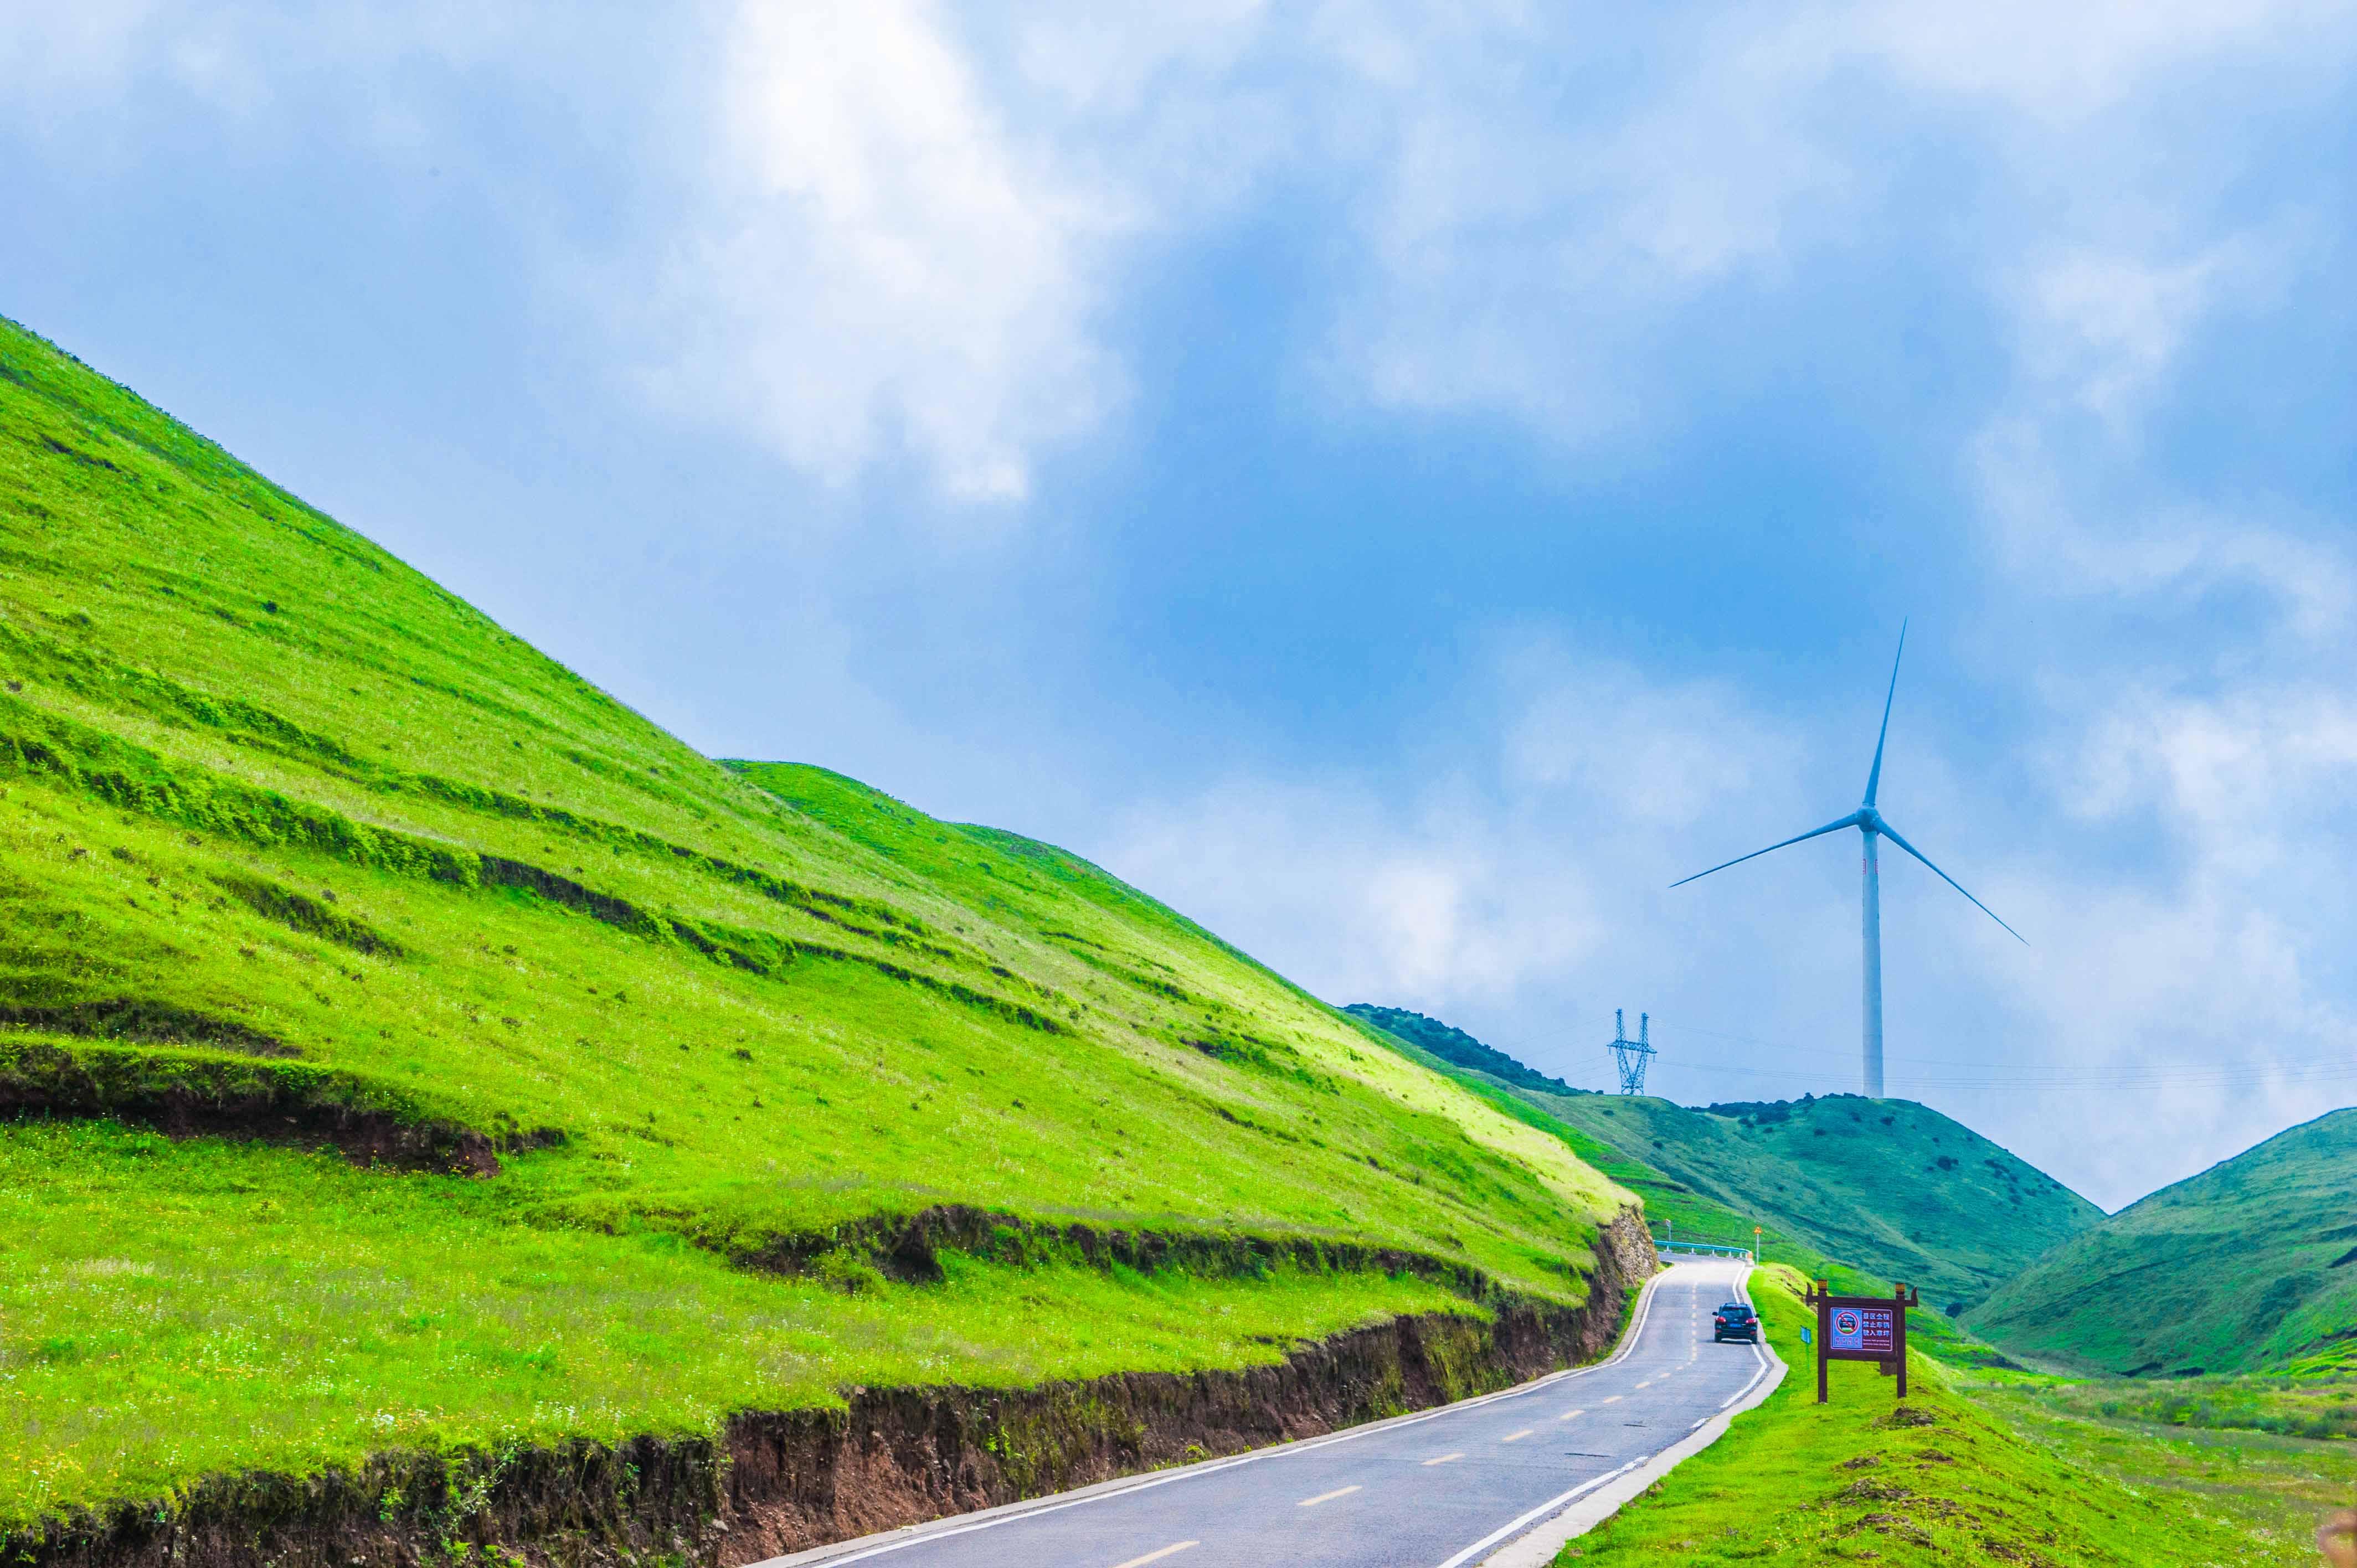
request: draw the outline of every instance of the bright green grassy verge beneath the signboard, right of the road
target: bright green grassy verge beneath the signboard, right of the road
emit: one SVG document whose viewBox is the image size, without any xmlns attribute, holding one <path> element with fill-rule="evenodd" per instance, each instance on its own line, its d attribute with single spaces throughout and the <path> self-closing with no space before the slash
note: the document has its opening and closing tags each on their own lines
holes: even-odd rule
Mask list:
<svg viewBox="0 0 2357 1568">
<path fill-rule="evenodd" d="M 1754 1273 L 1775 1351 L 1794 1368 L 1768 1401 L 1556 1563 L 2258 1563 L 2282 1542 L 2178 1497 L 2072 1467 L 1982 1412 L 1954 1372 L 1914 1353 L 1904 1422 L 1893 1382 L 1834 1363 L 1815 1403 L 1801 1278 Z M 1921 1422 L 1921 1424 L 1909 1424 Z"/>
</svg>

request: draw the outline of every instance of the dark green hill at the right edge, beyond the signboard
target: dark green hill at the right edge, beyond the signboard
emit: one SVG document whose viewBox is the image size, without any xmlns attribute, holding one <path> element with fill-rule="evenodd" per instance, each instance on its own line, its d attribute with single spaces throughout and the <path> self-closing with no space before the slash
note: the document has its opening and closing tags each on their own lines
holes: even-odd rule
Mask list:
<svg viewBox="0 0 2357 1568">
<path fill-rule="evenodd" d="M 2131 1377 L 2357 1349 L 2357 1108 L 2128 1205 L 2041 1257 L 1968 1323 L 2015 1356 Z"/>
</svg>

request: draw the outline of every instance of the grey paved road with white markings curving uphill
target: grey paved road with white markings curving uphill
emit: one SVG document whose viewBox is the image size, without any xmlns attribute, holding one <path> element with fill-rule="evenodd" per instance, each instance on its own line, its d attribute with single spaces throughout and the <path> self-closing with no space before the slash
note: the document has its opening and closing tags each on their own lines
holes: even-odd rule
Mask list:
<svg viewBox="0 0 2357 1568">
<path fill-rule="evenodd" d="M 1615 1361 L 1115 1488 L 778 1563 L 877 1568 L 1464 1568 L 1640 1467 L 1768 1375 L 1711 1344 L 1742 1266 L 1673 1264 Z"/>
</svg>

